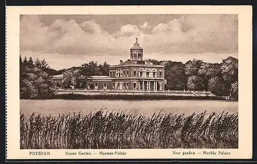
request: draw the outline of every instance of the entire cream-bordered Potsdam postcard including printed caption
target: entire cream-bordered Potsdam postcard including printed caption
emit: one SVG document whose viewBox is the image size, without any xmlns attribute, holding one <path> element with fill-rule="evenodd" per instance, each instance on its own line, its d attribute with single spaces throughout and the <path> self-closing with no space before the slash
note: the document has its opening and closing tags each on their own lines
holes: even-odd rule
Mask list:
<svg viewBox="0 0 257 164">
<path fill-rule="evenodd" d="M 252 158 L 251 6 L 6 7 L 7 159 Z"/>
</svg>

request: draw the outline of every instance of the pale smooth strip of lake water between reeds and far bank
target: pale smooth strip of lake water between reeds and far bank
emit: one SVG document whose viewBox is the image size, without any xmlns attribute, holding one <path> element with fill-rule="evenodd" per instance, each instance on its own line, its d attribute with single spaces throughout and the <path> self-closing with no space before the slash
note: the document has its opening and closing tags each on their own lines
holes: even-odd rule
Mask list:
<svg viewBox="0 0 257 164">
<path fill-rule="evenodd" d="M 134 114 L 144 114 L 152 116 L 155 112 L 186 114 L 201 113 L 207 111 L 221 113 L 238 112 L 237 101 L 221 100 L 67 100 L 67 99 L 47 99 L 47 100 L 20 100 L 21 113 L 25 117 L 32 112 L 42 115 L 58 116 L 80 112 L 88 114 L 90 111 L 96 112 L 100 109 L 104 111 L 126 111 Z"/>
</svg>

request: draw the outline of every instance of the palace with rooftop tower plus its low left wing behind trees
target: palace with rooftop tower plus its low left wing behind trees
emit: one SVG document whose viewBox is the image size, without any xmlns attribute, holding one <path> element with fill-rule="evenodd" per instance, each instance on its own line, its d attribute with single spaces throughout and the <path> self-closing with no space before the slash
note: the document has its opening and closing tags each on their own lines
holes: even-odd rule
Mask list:
<svg viewBox="0 0 257 164">
<path fill-rule="evenodd" d="M 63 76 L 51 76 L 53 86 L 61 85 Z M 130 49 L 130 59 L 120 60 L 119 65 L 109 67 L 109 76 L 92 76 L 87 89 L 107 90 L 164 90 L 167 80 L 164 79 L 164 66 L 154 65 L 143 59 L 143 48 L 137 38 Z"/>
</svg>

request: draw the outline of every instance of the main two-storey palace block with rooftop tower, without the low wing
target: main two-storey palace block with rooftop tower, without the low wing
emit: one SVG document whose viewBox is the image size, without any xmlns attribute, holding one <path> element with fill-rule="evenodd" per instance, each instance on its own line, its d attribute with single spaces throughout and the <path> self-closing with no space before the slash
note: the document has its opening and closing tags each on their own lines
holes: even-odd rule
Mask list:
<svg viewBox="0 0 257 164">
<path fill-rule="evenodd" d="M 119 65 L 109 67 L 113 79 L 112 89 L 116 90 L 164 90 L 164 66 L 154 65 L 143 59 L 143 48 L 137 39 L 130 49 L 130 59 L 120 60 Z"/>
</svg>

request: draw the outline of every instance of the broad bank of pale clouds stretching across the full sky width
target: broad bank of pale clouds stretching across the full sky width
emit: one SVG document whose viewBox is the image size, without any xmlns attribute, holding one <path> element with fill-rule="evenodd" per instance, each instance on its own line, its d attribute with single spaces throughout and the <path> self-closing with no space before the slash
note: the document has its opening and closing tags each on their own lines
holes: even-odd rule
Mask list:
<svg viewBox="0 0 257 164">
<path fill-rule="evenodd" d="M 57 19 L 44 26 L 39 15 L 24 15 L 20 26 L 21 51 L 45 54 L 127 57 L 136 37 L 144 52 L 149 54 L 237 53 L 238 45 L 236 15 L 182 15 L 152 29 L 148 22 L 138 25 L 152 30 L 148 34 L 132 24 L 125 24 L 109 34 L 102 30 L 104 25 L 94 21 L 78 24 L 76 19 Z"/>
</svg>

